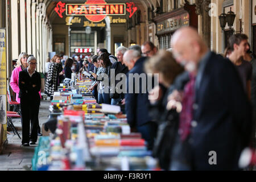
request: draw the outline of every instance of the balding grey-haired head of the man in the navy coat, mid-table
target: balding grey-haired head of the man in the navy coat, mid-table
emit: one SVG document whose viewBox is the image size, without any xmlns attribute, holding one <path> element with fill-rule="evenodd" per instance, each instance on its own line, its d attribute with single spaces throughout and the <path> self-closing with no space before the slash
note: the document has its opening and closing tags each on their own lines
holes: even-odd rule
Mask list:
<svg viewBox="0 0 256 182">
<path fill-rule="evenodd" d="M 126 51 L 123 55 L 123 63 L 131 70 L 139 58 L 141 58 L 141 52 L 131 49 Z"/>
</svg>

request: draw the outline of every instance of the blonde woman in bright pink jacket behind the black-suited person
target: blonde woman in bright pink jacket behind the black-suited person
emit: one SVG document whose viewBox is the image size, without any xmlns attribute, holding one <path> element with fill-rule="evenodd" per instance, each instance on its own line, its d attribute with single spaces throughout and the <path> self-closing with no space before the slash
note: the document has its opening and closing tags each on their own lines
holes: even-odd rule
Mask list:
<svg viewBox="0 0 256 182">
<path fill-rule="evenodd" d="M 19 98 L 19 72 L 22 71 L 23 69 L 27 69 L 27 59 L 28 59 L 28 54 L 26 52 L 22 52 L 19 55 L 19 59 L 17 60 L 16 66 L 13 70 L 13 73 L 11 73 L 11 81 L 10 81 L 10 86 L 11 89 L 13 89 L 13 92 L 16 93 L 16 101 L 20 103 L 20 98 Z M 39 95 L 41 97 L 41 94 L 39 92 Z M 38 126 L 38 135 L 42 136 L 40 134 L 40 126 Z"/>
</svg>

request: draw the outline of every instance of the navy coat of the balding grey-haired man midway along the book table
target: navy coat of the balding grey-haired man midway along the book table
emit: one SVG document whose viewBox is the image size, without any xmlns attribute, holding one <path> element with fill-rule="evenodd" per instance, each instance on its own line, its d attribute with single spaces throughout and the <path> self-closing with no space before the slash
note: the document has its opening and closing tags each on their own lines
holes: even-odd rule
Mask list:
<svg viewBox="0 0 256 182">
<path fill-rule="evenodd" d="M 127 93 L 125 94 L 125 110 L 127 114 L 127 122 L 131 127 L 141 126 L 151 121 L 148 115 L 148 107 L 150 102 L 148 101 L 148 92 L 142 93 L 142 80 L 135 82 L 133 77 L 129 77 L 130 73 L 144 73 L 144 62 L 146 57 L 141 57 L 137 60 L 134 68 L 127 73 Z M 129 84 L 133 80 L 133 93 L 129 93 Z M 139 93 L 135 93 L 135 85 L 139 85 Z M 147 81 L 144 83 L 147 86 Z"/>
</svg>

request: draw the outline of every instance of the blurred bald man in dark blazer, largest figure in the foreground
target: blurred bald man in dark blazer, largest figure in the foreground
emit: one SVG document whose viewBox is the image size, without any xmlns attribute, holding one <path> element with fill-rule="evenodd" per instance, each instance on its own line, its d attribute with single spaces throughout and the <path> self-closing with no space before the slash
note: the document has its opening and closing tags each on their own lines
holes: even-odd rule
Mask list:
<svg viewBox="0 0 256 182">
<path fill-rule="evenodd" d="M 210 52 L 191 27 L 176 31 L 171 42 L 176 60 L 195 78 L 193 103 L 185 106 L 192 110 L 191 125 L 179 133 L 186 142 L 181 160 L 187 159 L 192 170 L 239 170 L 241 151 L 250 141 L 251 108 L 238 72 Z"/>
</svg>

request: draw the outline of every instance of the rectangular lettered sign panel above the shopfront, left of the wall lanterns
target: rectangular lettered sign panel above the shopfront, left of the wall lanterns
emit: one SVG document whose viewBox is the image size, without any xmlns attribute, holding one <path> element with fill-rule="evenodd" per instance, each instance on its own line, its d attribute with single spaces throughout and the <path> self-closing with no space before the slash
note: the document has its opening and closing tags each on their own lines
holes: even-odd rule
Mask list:
<svg viewBox="0 0 256 182">
<path fill-rule="evenodd" d="M 156 24 L 156 34 L 164 34 L 175 31 L 180 27 L 189 26 L 189 14 L 184 13 L 172 18 L 168 18 L 163 22 Z"/>
</svg>

